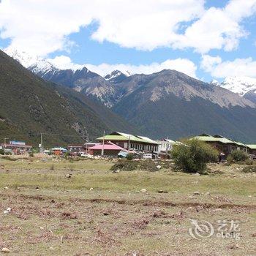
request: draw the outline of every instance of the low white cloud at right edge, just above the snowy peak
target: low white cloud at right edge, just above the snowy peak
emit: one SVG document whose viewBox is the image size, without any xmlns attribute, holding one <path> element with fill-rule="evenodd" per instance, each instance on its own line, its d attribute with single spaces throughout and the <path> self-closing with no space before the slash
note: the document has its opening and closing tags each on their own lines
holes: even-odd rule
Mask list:
<svg viewBox="0 0 256 256">
<path fill-rule="evenodd" d="M 210 72 L 214 78 L 226 78 L 228 76 L 247 76 L 256 78 L 256 61 L 252 58 L 222 61 L 217 56 L 203 56 L 200 67 Z"/>
</svg>

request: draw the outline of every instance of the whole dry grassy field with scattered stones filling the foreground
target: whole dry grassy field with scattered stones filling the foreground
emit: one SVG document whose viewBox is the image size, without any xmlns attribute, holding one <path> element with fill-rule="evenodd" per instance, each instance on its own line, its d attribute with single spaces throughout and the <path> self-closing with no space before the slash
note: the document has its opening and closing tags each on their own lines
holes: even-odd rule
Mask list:
<svg viewBox="0 0 256 256">
<path fill-rule="evenodd" d="M 172 168 L 113 173 L 114 164 L 0 159 L 0 248 L 10 255 L 256 254 L 256 174 L 243 165 L 209 165 L 199 176 Z M 214 235 L 190 236 L 191 219 L 210 222 Z M 241 238 L 217 237 L 219 220 L 238 222 Z"/>
</svg>

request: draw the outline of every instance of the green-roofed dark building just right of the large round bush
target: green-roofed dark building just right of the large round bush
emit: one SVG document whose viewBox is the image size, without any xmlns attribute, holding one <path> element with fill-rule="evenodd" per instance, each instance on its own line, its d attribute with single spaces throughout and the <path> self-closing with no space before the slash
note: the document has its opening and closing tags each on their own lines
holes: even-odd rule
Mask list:
<svg viewBox="0 0 256 256">
<path fill-rule="evenodd" d="M 227 157 L 234 150 L 243 150 L 246 151 L 246 145 L 240 142 L 236 142 L 234 140 L 227 139 L 221 135 L 208 135 L 203 133 L 202 135 L 195 136 L 198 140 L 203 140 L 206 143 L 214 146 L 220 153 L 225 154 Z"/>
</svg>

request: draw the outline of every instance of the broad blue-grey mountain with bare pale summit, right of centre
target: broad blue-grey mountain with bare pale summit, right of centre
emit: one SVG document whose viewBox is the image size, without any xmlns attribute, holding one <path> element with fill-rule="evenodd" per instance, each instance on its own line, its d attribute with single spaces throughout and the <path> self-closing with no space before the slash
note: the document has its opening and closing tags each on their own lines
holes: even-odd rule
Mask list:
<svg viewBox="0 0 256 256">
<path fill-rule="evenodd" d="M 255 104 L 238 94 L 175 70 L 132 75 L 132 93 L 113 110 L 153 138 L 177 139 L 202 132 L 256 141 Z"/>
</svg>

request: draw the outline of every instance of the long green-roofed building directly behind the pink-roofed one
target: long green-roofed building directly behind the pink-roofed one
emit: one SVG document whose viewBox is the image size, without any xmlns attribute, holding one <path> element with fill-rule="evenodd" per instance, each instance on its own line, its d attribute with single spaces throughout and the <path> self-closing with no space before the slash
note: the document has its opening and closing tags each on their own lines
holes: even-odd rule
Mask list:
<svg viewBox="0 0 256 256">
<path fill-rule="evenodd" d="M 105 135 L 104 137 L 97 138 L 100 142 L 110 141 L 111 143 L 125 148 L 126 150 L 132 151 L 148 151 L 148 152 L 157 152 L 158 143 L 155 140 L 144 136 L 135 136 L 129 135 L 123 132 L 112 132 L 110 135 Z"/>
</svg>

